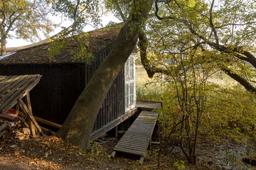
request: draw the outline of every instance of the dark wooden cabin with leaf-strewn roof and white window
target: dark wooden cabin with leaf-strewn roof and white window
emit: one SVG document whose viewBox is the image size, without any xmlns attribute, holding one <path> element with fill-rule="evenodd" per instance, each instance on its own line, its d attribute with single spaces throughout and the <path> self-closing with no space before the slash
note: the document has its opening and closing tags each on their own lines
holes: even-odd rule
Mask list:
<svg viewBox="0 0 256 170">
<path fill-rule="evenodd" d="M 0 60 L 1 75 L 41 74 L 38 85 L 31 90 L 33 115 L 56 124 L 63 124 L 77 97 L 93 73 L 110 52 L 118 29 L 98 29 L 90 32 L 90 63 L 74 60 L 70 43 L 66 50 L 49 57 L 49 43 L 30 46 Z M 95 121 L 92 138 L 109 131 L 135 112 L 134 54 L 127 60 L 106 96 Z"/>
</svg>

